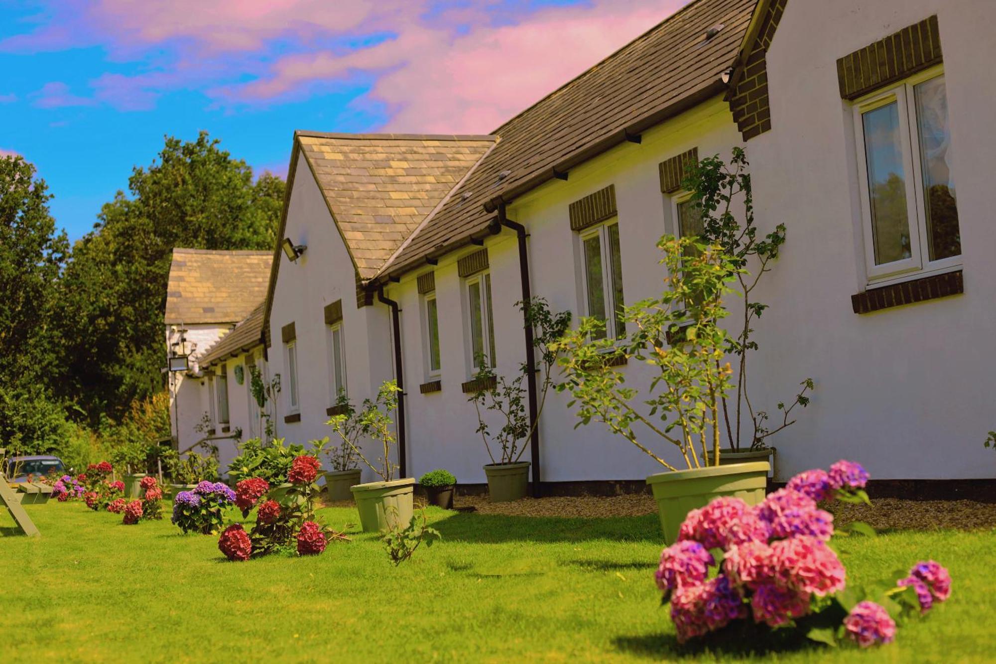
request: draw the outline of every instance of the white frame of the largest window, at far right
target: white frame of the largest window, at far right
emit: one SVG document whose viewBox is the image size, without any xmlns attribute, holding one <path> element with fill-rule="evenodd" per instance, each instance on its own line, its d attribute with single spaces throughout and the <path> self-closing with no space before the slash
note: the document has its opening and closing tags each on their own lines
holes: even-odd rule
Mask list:
<svg viewBox="0 0 996 664">
<path fill-rule="evenodd" d="M 944 75 L 943 66 L 933 67 L 904 79 L 889 88 L 875 91 L 858 100 L 853 109 L 855 141 L 857 143 L 858 185 L 861 192 L 862 237 L 865 243 L 865 265 L 869 285 L 886 285 L 910 278 L 939 274 L 957 269 L 961 254 L 930 260 L 927 248 L 926 204 L 919 146 L 919 130 L 913 88 L 925 81 Z M 895 103 L 899 117 L 899 136 L 906 188 L 906 219 L 909 223 L 909 258 L 876 265 L 874 234 L 871 225 L 871 191 L 869 189 L 868 157 L 865 152 L 864 115 Z"/>
</svg>

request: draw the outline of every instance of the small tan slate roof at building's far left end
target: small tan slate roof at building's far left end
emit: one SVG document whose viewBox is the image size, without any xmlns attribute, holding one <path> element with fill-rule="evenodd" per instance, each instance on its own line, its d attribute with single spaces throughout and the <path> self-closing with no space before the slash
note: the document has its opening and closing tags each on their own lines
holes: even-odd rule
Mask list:
<svg viewBox="0 0 996 664">
<path fill-rule="evenodd" d="M 235 323 L 266 297 L 273 253 L 173 249 L 165 322 Z"/>
</svg>

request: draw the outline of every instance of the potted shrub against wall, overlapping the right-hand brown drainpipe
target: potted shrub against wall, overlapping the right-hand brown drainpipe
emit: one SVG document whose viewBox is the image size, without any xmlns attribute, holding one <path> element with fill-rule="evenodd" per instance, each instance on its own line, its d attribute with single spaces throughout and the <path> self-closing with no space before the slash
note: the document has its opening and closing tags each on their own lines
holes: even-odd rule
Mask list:
<svg viewBox="0 0 996 664">
<path fill-rule="evenodd" d="M 492 502 L 526 497 L 530 464 L 522 461 L 522 455 L 526 451 L 527 441 L 539 425 L 547 393 L 555 385 L 551 370 L 557 364 L 558 351 L 553 344 L 571 324 L 570 312 L 552 314 L 543 298 L 534 297 L 529 302 L 516 304 L 523 312 L 527 324 L 533 327 L 537 369 L 542 375 L 536 420 L 531 423 L 526 412 L 527 392 L 522 385 L 527 379 L 525 364 L 521 366 L 519 375 L 508 381 L 504 376 L 495 374 L 481 356 L 478 362 L 480 370 L 474 375 L 477 390 L 468 399 L 474 404 L 477 413 L 477 433 L 481 435 L 484 449 L 491 458 L 491 463 L 484 466 L 484 474 L 488 479 L 488 495 Z M 496 419 L 503 424 L 496 433 L 492 433 L 482 411 L 498 414 Z M 494 453 L 499 449 L 501 452 L 496 459 Z"/>
</svg>

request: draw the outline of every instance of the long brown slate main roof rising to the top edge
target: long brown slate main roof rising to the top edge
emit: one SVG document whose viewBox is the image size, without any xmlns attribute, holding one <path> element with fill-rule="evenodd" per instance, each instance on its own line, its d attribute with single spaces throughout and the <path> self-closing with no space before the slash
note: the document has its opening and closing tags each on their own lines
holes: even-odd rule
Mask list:
<svg viewBox="0 0 996 664">
<path fill-rule="evenodd" d="M 500 141 L 380 269 L 397 274 L 479 233 L 517 195 L 726 90 L 756 0 L 696 0 L 498 128 Z M 706 33 L 722 25 L 711 38 Z"/>
</svg>

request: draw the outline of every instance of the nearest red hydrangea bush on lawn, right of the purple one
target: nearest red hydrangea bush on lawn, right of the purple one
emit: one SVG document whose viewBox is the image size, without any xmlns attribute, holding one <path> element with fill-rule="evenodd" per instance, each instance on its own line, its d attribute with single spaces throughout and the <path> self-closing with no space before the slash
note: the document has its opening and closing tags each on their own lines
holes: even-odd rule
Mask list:
<svg viewBox="0 0 996 664">
<path fill-rule="evenodd" d="M 248 532 L 241 523 L 228 526 L 218 539 L 218 549 L 229 560 L 242 561 L 276 552 L 314 555 L 325 550 L 330 538 L 345 539 L 315 517 L 320 491 L 315 481 L 321 468 L 317 457 L 298 455 L 287 473 L 289 488 L 271 489 L 262 478 L 236 484 L 235 504 L 244 518 L 257 508 L 256 524 Z"/>
</svg>

